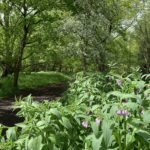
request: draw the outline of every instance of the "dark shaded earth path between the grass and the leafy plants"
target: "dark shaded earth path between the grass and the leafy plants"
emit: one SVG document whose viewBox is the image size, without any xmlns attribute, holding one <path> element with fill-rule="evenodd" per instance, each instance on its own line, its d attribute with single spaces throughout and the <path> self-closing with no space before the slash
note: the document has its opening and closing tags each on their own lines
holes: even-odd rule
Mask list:
<svg viewBox="0 0 150 150">
<path fill-rule="evenodd" d="M 33 99 L 39 102 L 43 100 L 54 100 L 61 97 L 63 92 L 67 90 L 67 83 L 51 84 L 36 89 L 28 89 L 20 91 L 19 97 L 25 97 L 31 94 Z M 14 98 L 0 100 L 0 124 L 5 126 L 14 126 L 14 124 L 22 122 L 23 118 L 16 116 L 16 111 L 13 111 L 12 105 L 15 102 Z"/>
</svg>

